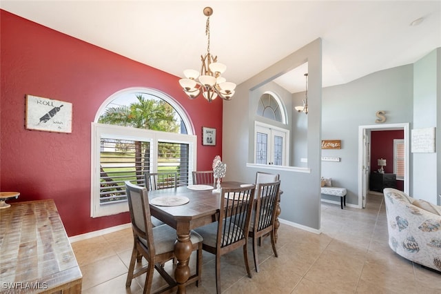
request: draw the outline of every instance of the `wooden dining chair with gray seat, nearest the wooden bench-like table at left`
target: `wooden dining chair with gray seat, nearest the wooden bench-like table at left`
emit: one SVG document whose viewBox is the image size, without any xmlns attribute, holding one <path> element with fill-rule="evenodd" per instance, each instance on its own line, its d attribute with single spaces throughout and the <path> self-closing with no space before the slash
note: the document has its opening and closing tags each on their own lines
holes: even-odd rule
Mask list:
<svg viewBox="0 0 441 294">
<path fill-rule="evenodd" d="M 130 258 L 130 266 L 125 286 L 130 287 L 132 279 L 143 273 L 147 273 L 143 293 L 150 293 L 152 290 L 153 274 L 156 269 L 167 282 L 168 286 L 154 293 L 173 291 L 177 286 L 176 281 L 165 271 L 163 264 L 175 257 L 174 243 L 176 242 L 176 230 L 166 224 L 156 227 L 152 226 L 152 222 L 150 221 L 149 199 L 145 187 L 136 186 L 126 181 L 125 189 L 127 191 L 134 237 L 132 257 Z M 201 235 L 192 231 L 190 240 L 192 242 L 193 251 L 197 251 L 196 273 L 189 278 L 187 284 L 196 282 L 196 285 L 199 286 L 199 284 L 201 284 L 203 239 Z M 142 257 L 147 259 L 148 264 L 135 272 L 135 262 L 136 260 L 141 262 Z"/>
</svg>

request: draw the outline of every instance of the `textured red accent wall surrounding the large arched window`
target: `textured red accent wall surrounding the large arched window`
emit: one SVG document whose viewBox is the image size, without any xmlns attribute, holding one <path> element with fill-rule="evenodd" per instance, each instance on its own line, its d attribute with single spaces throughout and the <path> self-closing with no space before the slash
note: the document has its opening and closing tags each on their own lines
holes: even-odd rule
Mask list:
<svg viewBox="0 0 441 294">
<path fill-rule="evenodd" d="M 19 191 L 19 202 L 54 199 L 68 235 L 130 222 L 128 213 L 90 217 L 91 122 L 114 92 L 147 87 L 174 97 L 198 135 L 198 170 L 211 169 L 222 154 L 222 100 L 189 100 L 174 75 L 0 13 L 0 190 Z M 72 133 L 26 130 L 27 94 L 71 102 Z M 216 146 L 201 144 L 203 126 L 216 128 Z"/>
</svg>

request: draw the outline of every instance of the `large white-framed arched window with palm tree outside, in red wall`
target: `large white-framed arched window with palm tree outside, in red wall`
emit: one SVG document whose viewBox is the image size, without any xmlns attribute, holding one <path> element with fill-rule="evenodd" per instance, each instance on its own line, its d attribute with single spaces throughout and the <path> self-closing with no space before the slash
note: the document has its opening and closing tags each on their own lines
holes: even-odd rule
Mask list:
<svg viewBox="0 0 441 294">
<path fill-rule="evenodd" d="M 144 173 L 176 172 L 187 186 L 196 165 L 196 136 L 185 111 L 165 93 L 129 88 L 108 97 L 92 123 L 91 216 L 128 211 L 124 182 Z"/>
</svg>

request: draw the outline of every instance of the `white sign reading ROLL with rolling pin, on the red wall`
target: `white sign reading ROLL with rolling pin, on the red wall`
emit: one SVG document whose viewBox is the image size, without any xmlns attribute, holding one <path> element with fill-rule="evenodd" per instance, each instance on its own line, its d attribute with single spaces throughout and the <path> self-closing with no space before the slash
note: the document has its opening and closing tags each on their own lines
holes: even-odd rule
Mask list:
<svg viewBox="0 0 441 294">
<path fill-rule="evenodd" d="M 72 103 L 26 95 L 28 130 L 72 133 Z"/>
</svg>

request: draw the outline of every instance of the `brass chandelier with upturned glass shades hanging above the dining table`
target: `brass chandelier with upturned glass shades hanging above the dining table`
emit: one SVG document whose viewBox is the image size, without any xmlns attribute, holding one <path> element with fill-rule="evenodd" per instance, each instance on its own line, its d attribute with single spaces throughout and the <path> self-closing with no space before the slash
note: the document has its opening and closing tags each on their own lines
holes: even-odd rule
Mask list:
<svg viewBox="0 0 441 294">
<path fill-rule="evenodd" d="M 216 99 L 216 97 L 231 100 L 236 84 L 220 76 L 225 72 L 227 66 L 217 62 L 218 57 L 213 56 L 209 52 L 209 17 L 213 14 L 213 9 L 206 7 L 203 12 L 207 17 L 207 24 L 205 26 L 207 53 L 201 55 L 201 70 L 184 70 L 185 79 L 180 79 L 179 84 L 189 99 L 195 99 L 202 93 L 203 97 L 209 102 Z"/>
</svg>

